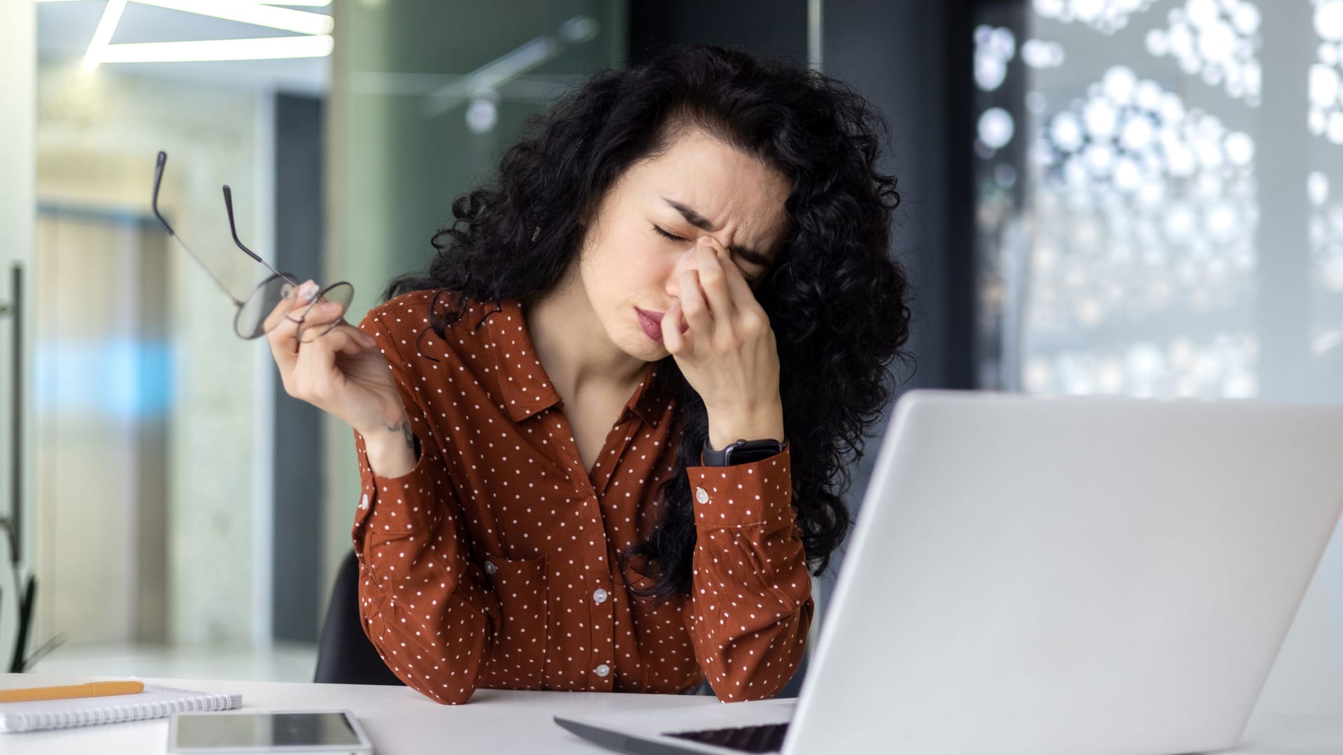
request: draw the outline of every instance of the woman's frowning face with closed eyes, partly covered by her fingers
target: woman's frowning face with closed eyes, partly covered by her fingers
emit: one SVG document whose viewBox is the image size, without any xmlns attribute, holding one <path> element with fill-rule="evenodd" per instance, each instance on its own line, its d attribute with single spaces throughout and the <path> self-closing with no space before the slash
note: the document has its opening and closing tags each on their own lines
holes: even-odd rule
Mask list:
<svg viewBox="0 0 1343 755">
<path fill-rule="evenodd" d="M 662 154 L 630 167 L 598 208 L 579 261 L 611 343 L 643 361 L 667 356 L 646 322 L 680 297 L 701 236 L 729 250 L 753 289 L 784 240 L 790 191 L 783 173 L 700 129 L 682 130 Z"/>
</svg>

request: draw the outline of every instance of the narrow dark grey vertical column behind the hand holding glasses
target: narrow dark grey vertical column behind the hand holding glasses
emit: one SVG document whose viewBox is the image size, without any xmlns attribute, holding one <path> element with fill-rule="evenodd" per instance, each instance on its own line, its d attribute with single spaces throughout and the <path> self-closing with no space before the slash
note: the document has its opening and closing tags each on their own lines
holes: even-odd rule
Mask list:
<svg viewBox="0 0 1343 755">
<path fill-rule="evenodd" d="M 275 97 L 275 266 L 332 283 L 322 250 L 322 101 Z M 274 615 L 275 639 L 316 642 L 322 532 L 321 411 L 289 399 L 275 380 Z"/>
</svg>

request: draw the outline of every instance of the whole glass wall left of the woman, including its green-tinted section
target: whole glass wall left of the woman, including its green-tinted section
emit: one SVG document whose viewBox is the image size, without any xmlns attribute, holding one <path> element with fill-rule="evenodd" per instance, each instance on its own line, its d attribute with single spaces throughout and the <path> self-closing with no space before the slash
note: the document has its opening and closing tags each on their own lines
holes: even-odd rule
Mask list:
<svg viewBox="0 0 1343 755">
<path fill-rule="evenodd" d="M 349 551 L 352 435 L 283 395 L 266 345 L 232 335 L 215 282 L 146 224 L 154 153 L 171 154 L 165 215 L 230 290 L 261 266 L 231 243 L 226 183 L 240 236 L 305 278 L 351 281 L 357 321 L 427 265 L 453 199 L 528 116 L 624 59 L 624 4 L 334 0 L 246 21 L 24 7 L 36 203 L 15 196 L 40 210 L 28 649 L 62 637 L 39 665 L 56 673 L 312 678 Z M 153 59 L 153 43 L 191 39 L 306 56 Z"/>
</svg>

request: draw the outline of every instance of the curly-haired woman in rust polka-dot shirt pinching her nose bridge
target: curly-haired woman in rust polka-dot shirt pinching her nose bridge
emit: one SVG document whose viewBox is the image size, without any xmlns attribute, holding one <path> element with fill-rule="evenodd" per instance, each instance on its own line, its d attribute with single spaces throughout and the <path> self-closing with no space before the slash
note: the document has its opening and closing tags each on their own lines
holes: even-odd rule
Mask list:
<svg viewBox="0 0 1343 755">
<path fill-rule="evenodd" d="M 454 203 L 427 275 L 357 329 L 270 332 L 286 391 L 356 431 L 360 611 L 406 684 L 783 688 L 908 335 L 880 125 L 716 47 L 598 74 Z"/>
</svg>

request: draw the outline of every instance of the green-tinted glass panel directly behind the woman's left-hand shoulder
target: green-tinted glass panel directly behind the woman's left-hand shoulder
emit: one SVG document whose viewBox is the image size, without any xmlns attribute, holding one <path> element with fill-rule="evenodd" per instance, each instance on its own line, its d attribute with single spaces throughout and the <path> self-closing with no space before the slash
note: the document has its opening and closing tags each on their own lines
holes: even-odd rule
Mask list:
<svg viewBox="0 0 1343 755">
<path fill-rule="evenodd" d="M 626 58 L 623 0 L 337 0 L 329 103 L 328 270 L 352 318 L 398 274 L 426 270 L 453 200 L 485 180 L 524 121 Z M 359 497 L 349 427 L 328 423 L 326 584 Z"/>
</svg>

